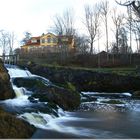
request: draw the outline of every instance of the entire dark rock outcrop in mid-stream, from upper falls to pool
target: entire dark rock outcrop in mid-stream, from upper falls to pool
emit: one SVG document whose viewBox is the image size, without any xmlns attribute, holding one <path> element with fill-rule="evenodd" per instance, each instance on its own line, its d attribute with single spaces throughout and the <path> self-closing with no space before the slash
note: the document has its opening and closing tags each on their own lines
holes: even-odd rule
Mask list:
<svg viewBox="0 0 140 140">
<path fill-rule="evenodd" d="M 59 105 L 64 110 L 73 110 L 80 105 L 80 94 L 76 91 L 55 86 L 41 78 L 15 78 L 13 83 L 17 87 L 24 87 L 33 94 L 28 98 L 31 102 L 49 102 Z M 73 89 L 73 88 L 72 88 Z"/>
</svg>

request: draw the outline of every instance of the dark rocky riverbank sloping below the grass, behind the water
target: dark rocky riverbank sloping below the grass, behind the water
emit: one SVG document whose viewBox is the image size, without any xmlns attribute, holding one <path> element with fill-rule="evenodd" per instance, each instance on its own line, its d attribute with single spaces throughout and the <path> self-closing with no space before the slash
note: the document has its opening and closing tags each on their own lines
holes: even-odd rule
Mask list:
<svg viewBox="0 0 140 140">
<path fill-rule="evenodd" d="M 32 73 L 48 78 L 57 85 L 78 91 L 133 93 L 140 90 L 140 77 L 136 75 L 45 66 L 35 63 L 22 66 L 26 66 Z"/>
</svg>

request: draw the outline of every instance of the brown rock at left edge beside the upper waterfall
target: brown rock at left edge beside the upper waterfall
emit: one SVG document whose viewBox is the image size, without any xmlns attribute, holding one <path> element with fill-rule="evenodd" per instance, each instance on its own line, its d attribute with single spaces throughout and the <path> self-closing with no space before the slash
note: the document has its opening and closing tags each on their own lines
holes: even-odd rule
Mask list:
<svg viewBox="0 0 140 140">
<path fill-rule="evenodd" d="M 10 76 L 0 60 L 0 100 L 14 98 L 15 93 L 10 83 Z"/>
</svg>

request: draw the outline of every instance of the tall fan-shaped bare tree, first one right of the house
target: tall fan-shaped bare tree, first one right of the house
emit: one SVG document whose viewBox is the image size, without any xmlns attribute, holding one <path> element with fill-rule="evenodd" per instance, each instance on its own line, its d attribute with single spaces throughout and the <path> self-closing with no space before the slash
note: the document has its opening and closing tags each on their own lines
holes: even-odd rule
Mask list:
<svg viewBox="0 0 140 140">
<path fill-rule="evenodd" d="M 100 7 L 96 4 L 93 7 L 85 6 L 85 26 L 89 33 L 90 53 L 93 53 L 93 43 L 98 35 L 100 26 Z"/>
</svg>

